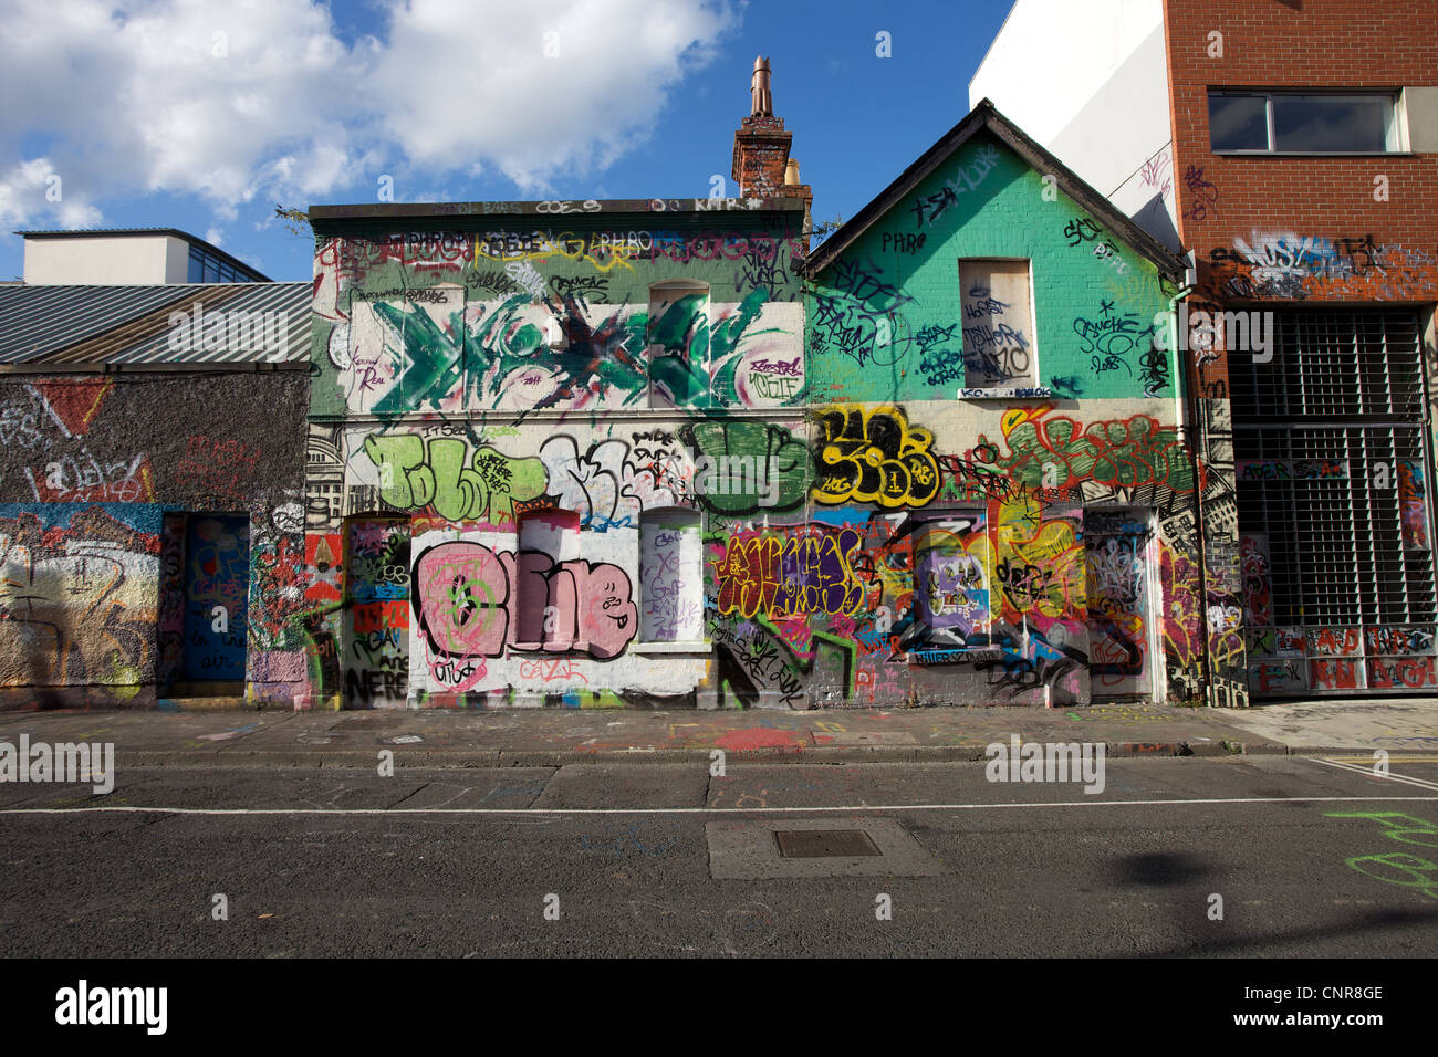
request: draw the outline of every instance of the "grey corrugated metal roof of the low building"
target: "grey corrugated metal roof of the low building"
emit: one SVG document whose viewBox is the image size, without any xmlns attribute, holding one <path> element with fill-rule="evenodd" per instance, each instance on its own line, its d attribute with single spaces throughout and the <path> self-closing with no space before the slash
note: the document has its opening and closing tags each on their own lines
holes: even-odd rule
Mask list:
<svg viewBox="0 0 1438 1057">
<path fill-rule="evenodd" d="M 309 360 L 312 292 L 311 283 L 0 286 L 0 365 L 299 364 Z M 171 326 L 173 312 L 190 325 Z"/>
</svg>

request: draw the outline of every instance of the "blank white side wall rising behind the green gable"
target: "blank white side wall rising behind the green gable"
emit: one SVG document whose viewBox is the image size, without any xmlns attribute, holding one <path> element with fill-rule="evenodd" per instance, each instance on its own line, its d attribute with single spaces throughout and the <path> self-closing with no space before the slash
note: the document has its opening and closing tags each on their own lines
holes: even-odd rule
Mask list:
<svg viewBox="0 0 1438 1057">
<path fill-rule="evenodd" d="M 1178 247 L 1162 0 L 1017 0 L 969 82 Z"/>
</svg>

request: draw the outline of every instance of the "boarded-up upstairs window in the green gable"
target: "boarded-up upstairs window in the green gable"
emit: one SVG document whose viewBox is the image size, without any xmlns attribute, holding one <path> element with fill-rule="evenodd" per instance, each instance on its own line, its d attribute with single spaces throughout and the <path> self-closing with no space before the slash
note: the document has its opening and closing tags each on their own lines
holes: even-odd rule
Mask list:
<svg viewBox="0 0 1438 1057">
<path fill-rule="evenodd" d="M 1034 314 L 1027 260 L 961 260 L 963 388 L 1034 385 Z"/>
</svg>

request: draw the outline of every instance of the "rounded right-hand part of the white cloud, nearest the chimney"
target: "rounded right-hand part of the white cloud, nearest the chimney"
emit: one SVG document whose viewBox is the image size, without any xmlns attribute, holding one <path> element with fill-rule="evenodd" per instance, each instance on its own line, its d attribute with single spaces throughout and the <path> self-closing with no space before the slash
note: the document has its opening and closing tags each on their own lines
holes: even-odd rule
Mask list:
<svg viewBox="0 0 1438 1057">
<path fill-rule="evenodd" d="M 610 165 L 654 124 L 728 9 L 653 0 L 447 0 L 393 12 L 375 69 L 388 137 L 423 165 L 492 163 L 523 188 Z"/>
</svg>

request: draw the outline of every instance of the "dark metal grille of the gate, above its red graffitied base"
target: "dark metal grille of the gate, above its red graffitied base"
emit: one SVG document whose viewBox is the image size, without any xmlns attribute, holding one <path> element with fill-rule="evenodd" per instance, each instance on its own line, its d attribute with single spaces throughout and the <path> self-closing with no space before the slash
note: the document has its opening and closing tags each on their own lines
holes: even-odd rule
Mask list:
<svg viewBox="0 0 1438 1057">
<path fill-rule="evenodd" d="M 1438 616 L 1401 513 L 1399 463 L 1429 476 L 1419 335 L 1409 311 L 1277 312 L 1271 362 L 1229 354 L 1238 525 L 1268 534 L 1276 624 Z"/>
</svg>

